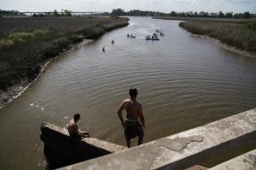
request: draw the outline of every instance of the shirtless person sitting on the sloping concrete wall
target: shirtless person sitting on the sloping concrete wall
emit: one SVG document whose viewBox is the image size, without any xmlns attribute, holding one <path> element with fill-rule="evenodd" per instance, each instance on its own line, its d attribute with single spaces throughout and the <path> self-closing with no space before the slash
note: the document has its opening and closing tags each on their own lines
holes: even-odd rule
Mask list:
<svg viewBox="0 0 256 170">
<path fill-rule="evenodd" d="M 74 119 L 72 119 L 71 121 L 69 121 L 68 125 L 67 125 L 67 130 L 69 135 L 72 138 L 80 138 L 80 137 L 88 137 L 89 138 L 89 133 L 86 131 L 81 131 L 78 129 L 78 125 L 76 125 L 77 121 L 79 121 L 80 119 L 80 114 L 76 113 L 74 115 Z"/>
</svg>

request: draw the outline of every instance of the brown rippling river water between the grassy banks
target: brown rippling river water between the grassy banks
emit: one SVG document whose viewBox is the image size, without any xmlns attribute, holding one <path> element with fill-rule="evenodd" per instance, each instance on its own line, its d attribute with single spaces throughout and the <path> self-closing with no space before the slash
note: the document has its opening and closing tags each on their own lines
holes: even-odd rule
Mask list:
<svg viewBox="0 0 256 170">
<path fill-rule="evenodd" d="M 0 169 L 44 168 L 41 123 L 64 127 L 74 113 L 92 137 L 125 145 L 117 109 L 130 87 L 137 87 L 143 105 L 145 142 L 255 108 L 256 59 L 178 24 L 131 18 L 128 27 L 50 62 L 45 74 L 0 110 Z M 156 28 L 165 36 L 145 40 Z"/>
</svg>

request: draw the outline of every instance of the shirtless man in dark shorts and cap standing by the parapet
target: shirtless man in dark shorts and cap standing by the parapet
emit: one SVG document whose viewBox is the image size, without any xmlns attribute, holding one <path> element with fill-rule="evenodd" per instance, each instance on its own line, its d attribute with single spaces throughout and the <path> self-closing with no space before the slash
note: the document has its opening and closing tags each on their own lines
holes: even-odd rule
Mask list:
<svg viewBox="0 0 256 170">
<path fill-rule="evenodd" d="M 136 88 L 130 88 L 129 95 L 131 96 L 131 98 L 128 100 L 124 100 L 117 112 L 122 126 L 124 127 L 124 136 L 128 148 L 131 147 L 131 138 L 139 138 L 138 146 L 141 145 L 143 142 L 143 129 L 145 129 L 145 120 L 142 113 L 142 106 L 136 100 L 137 94 L 138 93 Z M 124 108 L 126 110 L 125 121 L 122 116 L 122 111 L 124 110 Z"/>
</svg>

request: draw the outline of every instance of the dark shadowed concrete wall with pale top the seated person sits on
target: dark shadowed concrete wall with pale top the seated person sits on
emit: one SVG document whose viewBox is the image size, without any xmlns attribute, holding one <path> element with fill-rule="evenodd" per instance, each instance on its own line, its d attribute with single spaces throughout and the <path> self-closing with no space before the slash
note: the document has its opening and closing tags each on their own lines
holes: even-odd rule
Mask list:
<svg viewBox="0 0 256 170">
<path fill-rule="evenodd" d="M 50 123 L 42 123 L 41 140 L 49 168 L 59 168 L 126 149 L 97 138 L 70 138 L 66 129 Z"/>
</svg>

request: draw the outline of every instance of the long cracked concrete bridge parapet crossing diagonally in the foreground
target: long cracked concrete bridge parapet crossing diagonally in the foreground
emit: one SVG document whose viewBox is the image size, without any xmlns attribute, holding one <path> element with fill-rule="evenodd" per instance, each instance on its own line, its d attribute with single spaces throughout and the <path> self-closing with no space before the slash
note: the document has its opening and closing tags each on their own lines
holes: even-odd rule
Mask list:
<svg viewBox="0 0 256 170">
<path fill-rule="evenodd" d="M 256 109 L 65 169 L 184 169 L 256 142 Z"/>
</svg>

